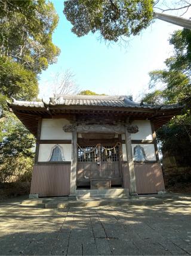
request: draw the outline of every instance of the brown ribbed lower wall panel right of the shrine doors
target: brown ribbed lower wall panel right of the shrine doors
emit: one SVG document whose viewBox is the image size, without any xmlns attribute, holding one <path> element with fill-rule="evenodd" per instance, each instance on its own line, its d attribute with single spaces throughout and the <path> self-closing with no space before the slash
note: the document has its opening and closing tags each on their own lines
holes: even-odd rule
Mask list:
<svg viewBox="0 0 191 256">
<path fill-rule="evenodd" d="M 134 164 L 134 168 L 138 194 L 155 194 L 165 189 L 160 164 Z M 124 188 L 129 188 L 130 174 L 128 173 L 126 164 L 122 164 L 122 174 Z"/>
</svg>

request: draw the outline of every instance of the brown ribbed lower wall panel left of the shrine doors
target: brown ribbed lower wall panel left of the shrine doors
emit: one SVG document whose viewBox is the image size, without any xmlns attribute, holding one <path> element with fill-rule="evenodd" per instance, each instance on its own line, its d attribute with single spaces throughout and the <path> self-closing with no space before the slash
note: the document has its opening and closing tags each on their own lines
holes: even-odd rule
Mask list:
<svg viewBox="0 0 191 256">
<path fill-rule="evenodd" d="M 34 165 L 30 194 L 57 197 L 70 194 L 70 164 Z"/>
</svg>

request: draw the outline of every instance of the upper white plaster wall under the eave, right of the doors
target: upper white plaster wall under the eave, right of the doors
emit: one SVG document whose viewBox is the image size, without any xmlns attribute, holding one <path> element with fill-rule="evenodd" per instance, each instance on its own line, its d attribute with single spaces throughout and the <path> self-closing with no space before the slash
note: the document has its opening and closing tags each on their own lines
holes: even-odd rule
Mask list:
<svg viewBox="0 0 191 256">
<path fill-rule="evenodd" d="M 138 132 L 131 134 L 131 140 L 152 140 L 152 129 L 149 120 L 135 120 L 132 125 L 138 126 Z M 122 140 L 125 140 L 125 134 L 122 134 Z"/>
</svg>

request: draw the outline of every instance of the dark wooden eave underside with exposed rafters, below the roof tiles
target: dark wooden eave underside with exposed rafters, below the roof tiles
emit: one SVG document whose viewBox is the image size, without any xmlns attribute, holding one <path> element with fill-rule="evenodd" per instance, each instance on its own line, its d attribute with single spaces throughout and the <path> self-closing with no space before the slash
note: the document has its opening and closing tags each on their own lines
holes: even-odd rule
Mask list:
<svg viewBox="0 0 191 256">
<path fill-rule="evenodd" d="M 71 115 L 107 115 L 107 118 L 125 119 L 130 116 L 132 119 L 150 120 L 155 130 L 167 124 L 175 115 L 180 115 L 183 107 L 166 107 L 165 109 L 137 108 L 137 107 L 100 107 L 100 106 L 18 106 L 8 104 L 10 110 L 20 121 L 36 136 L 39 118 L 66 118 Z"/>
</svg>

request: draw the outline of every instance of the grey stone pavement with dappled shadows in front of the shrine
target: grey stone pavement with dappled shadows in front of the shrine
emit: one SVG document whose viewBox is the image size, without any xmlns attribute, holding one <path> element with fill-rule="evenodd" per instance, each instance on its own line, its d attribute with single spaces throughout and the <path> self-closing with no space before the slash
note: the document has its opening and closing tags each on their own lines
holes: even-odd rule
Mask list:
<svg viewBox="0 0 191 256">
<path fill-rule="evenodd" d="M 59 210 L 21 200 L 0 203 L 0 255 L 191 255 L 190 196 Z"/>
</svg>

